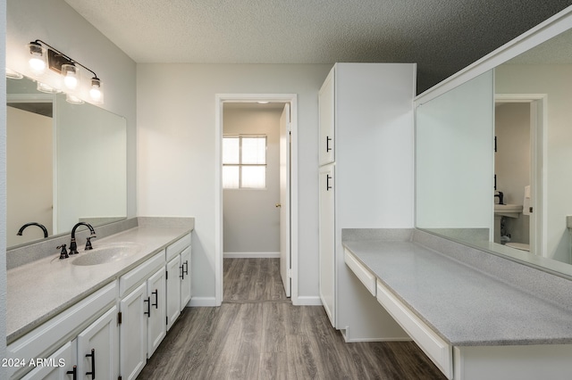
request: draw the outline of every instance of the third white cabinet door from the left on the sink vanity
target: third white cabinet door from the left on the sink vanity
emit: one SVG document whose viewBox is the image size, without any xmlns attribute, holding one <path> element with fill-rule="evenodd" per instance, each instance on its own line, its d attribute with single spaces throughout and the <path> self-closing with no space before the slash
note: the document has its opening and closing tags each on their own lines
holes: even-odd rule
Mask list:
<svg viewBox="0 0 572 380">
<path fill-rule="evenodd" d="M 147 362 L 147 283 L 135 288 L 120 302 L 120 370 L 125 379 L 134 379 Z"/>
</svg>

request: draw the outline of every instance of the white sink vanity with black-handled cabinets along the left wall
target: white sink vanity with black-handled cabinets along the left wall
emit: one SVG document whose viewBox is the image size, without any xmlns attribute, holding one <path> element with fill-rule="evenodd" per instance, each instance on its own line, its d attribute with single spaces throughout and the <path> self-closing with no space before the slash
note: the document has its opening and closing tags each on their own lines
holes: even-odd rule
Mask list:
<svg viewBox="0 0 572 380">
<path fill-rule="evenodd" d="M 10 378 L 137 377 L 190 300 L 193 226 L 146 223 L 9 269 Z"/>
</svg>

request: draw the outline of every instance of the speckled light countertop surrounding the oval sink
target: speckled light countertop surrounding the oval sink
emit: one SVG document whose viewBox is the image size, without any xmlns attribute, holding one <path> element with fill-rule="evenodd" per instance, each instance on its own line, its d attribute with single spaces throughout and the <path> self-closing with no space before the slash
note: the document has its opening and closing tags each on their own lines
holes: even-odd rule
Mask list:
<svg viewBox="0 0 572 380">
<path fill-rule="evenodd" d="M 140 226 L 102 239 L 94 239 L 97 248 L 109 243 L 130 242 L 142 245 L 140 252 L 123 260 L 92 266 L 71 264 L 80 254 L 59 260 L 59 251 L 7 271 L 6 335 L 11 343 L 75 302 L 111 283 L 168 244 L 189 234 L 188 227 Z"/>
</svg>

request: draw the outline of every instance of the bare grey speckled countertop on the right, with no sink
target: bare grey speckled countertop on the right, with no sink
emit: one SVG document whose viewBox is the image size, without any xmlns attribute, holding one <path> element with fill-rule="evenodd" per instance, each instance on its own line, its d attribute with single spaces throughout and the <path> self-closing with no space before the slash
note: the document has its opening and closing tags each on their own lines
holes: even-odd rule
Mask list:
<svg viewBox="0 0 572 380">
<path fill-rule="evenodd" d="M 344 246 L 454 346 L 572 343 L 572 313 L 421 244 Z"/>
</svg>

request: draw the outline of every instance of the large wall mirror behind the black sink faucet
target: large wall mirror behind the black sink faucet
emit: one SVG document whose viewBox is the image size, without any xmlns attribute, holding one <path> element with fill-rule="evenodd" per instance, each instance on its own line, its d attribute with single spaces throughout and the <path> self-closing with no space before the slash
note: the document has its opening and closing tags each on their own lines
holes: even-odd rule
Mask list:
<svg viewBox="0 0 572 380">
<path fill-rule="evenodd" d="M 127 215 L 126 120 L 93 104 L 6 79 L 6 240 L 8 249 Z"/>
</svg>

